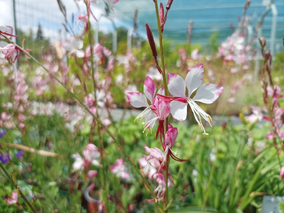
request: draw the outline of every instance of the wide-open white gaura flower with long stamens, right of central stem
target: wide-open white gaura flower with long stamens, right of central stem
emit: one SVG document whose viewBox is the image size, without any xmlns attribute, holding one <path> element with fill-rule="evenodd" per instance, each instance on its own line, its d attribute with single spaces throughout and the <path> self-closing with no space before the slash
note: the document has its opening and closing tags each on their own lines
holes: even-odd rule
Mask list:
<svg viewBox="0 0 284 213">
<path fill-rule="evenodd" d="M 159 95 L 170 104 L 170 113 L 172 117 L 177 120 L 185 120 L 187 118 L 187 105 L 189 104 L 193 116 L 198 123 L 198 126 L 202 128 L 205 135 L 204 126 L 201 122 L 201 117 L 204 118 L 211 126 L 213 121 L 210 115 L 208 115 L 203 109 L 201 109 L 195 101 L 210 104 L 213 103 L 223 91 L 223 87 L 214 84 L 203 84 L 203 65 L 192 68 L 185 80 L 175 73 L 168 73 L 168 91 L 173 97 Z M 186 87 L 188 88 L 188 95 L 186 95 Z M 190 97 L 192 93 L 197 90 L 194 97 Z"/>
</svg>

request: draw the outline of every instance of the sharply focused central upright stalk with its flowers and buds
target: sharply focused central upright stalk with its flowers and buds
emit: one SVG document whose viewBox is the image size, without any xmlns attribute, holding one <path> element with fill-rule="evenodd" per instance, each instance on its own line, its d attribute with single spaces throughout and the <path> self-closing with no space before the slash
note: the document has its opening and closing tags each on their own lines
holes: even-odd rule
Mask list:
<svg viewBox="0 0 284 213">
<path fill-rule="evenodd" d="M 156 85 L 154 81 L 150 77 L 146 77 L 144 81 L 144 94 L 129 92 L 127 93 L 127 98 L 130 104 L 134 107 L 146 107 L 146 109 L 136 118 L 145 118 L 143 132 L 145 130 L 147 130 L 147 132 L 149 130 L 152 131 L 155 122 L 158 121 L 159 123 L 155 135 L 156 139 L 160 139 L 164 152 L 157 147 L 153 149 L 145 146 L 145 150 L 149 154 L 145 157 L 145 160 L 148 162 L 149 166 L 146 166 L 142 159 L 140 165 L 142 166 L 144 172 L 148 173 L 148 176 L 151 172 L 152 175 L 149 177 L 155 177 L 158 183 L 158 187 L 155 189 L 157 196 L 153 199 L 149 199 L 148 201 L 163 202 L 164 210 L 167 212 L 170 206 L 170 203 L 168 202 L 168 187 L 174 185 L 173 178 L 169 171 L 170 157 L 179 162 L 187 161 L 186 159 L 178 158 L 178 153 L 173 151 L 173 145 L 177 139 L 178 129 L 173 127 L 168 122 L 168 116 L 171 114 L 172 117 L 177 120 L 185 120 L 187 118 L 187 106 L 189 105 L 193 112 L 194 118 L 198 123 L 198 126 L 203 130 L 205 135 L 208 135 L 205 131 L 201 118 L 204 118 L 210 125 L 213 120 L 195 103 L 195 101 L 206 104 L 213 103 L 218 96 L 221 95 L 223 88 L 213 84 L 201 85 L 204 73 L 202 64 L 192 68 L 188 72 L 185 80 L 176 73 L 168 73 L 166 77 L 163 51 L 163 31 L 167 19 L 167 13 L 172 5 L 173 0 L 168 0 L 166 5 L 166 13 L 164 12 L 163 3 L 160 3 L 159 10 L 157 0 L 153 1 L 155 3 L 159 32 L 162 68 L 159 66 L 156 45 L 148 24 L 146 24 L 146 32 L 157 71 L 163 76 L 164 87 L 162 87 L 156 94 Z M 188 88 L 188 95 L 186 95 L 186 87 Z M 191 98 L 190 96 L 196 90 L 196 95 Z M 148 104 L 146 98 L 148 98 L 151 105 Z"/>
</svg>

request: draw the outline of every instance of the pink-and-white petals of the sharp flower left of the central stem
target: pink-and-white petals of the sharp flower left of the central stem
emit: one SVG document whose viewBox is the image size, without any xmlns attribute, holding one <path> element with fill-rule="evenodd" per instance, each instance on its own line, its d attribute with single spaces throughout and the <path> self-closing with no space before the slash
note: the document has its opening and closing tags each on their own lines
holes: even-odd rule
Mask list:
<svg viewBox="0 0 284 213">
<path fill-rule="evenodd" d="M 145 81 L 144 81 L 144 87 L 143 87 L 143 92 L 139 93 L 139 92 L 128 92 L 127 93 L 127 99 L 129 101 L 129 103 L 136 107 L 136 108 L 140 108 L 140 107 L 146 107 L 146 109 L 143 110 L 142 113 L 140 113 L 134 120 L 134 122 L 137 119 L 141 119 L 141 118 L 147 118 L 151 112 L 151 105 L 153 104 L 153 100 L 154 97 L 156 95 L 156 84 L 155 82 L 152 80 L 152 78 L 150 77 L 146 77 Z M 160 94 L 164 94 L 164 88 L 161 88 L 158 93 Z M 150 101 L 151 105 L 148 104 L 147 102 L 147 98 Z"/>
</svg>

